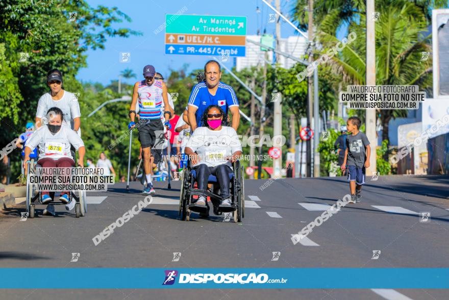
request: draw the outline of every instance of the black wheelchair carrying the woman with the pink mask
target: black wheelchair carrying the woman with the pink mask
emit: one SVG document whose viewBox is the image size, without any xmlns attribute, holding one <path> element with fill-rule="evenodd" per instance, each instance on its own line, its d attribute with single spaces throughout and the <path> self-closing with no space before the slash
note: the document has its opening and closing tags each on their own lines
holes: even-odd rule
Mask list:
<svg viewBox="0 0 449 300">
<path fill-rule="evenodd" d="M 195 199 L 193 196 L 210 197 L 214 214 L 219 216 L 223 213 L 233 213 L 234 222 L 242 222 L 245 217 L 245 196 L 244 196 L 244 176 L 243 166 L 240 166 L 240 161 L 233 163 L 233 172 L 229 173 L 230 177 L 230 194 L 231 194 L 231 206 L 219 207 L 221 200 L 223 200 L 219 194 L 218 180 L 214 175 L 210 175 L 208 183 L 213 184 L 213 189 L 199 190 L 193 188 L 196 182 L 196 172 L 192 170 L 190 161 L 187 161 L 187 167 L 184 168 L 181 175 L 181 195 L 179 198 L 179 216 L 183 221 L 189 221 L 191 212 L 205 213 L 209 210 L 207 207 L 199 207 L 195 205 Z"/>
</svg>

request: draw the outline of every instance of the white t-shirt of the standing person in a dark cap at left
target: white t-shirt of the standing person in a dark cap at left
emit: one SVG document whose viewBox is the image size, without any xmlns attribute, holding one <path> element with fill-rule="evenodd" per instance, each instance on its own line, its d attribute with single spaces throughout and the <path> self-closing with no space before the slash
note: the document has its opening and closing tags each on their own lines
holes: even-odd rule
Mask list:
<svg viewBox="0 0 449 300">
<path fill-rule="evenodd" d="M 59 100 L 53 100 L 50 93 L 45 93 L 42 95 L 37 104 L 36 117 L 46 117 L 48 109 L 52 107 L 58 107 L 62 110 L 62 113 L 64 114 L 63 123 L 71 129 L 73 129 L 73 119 L 81 117 L 78 98 L 66 90 L 64 90 L 64 95 Z"/>
</svg>

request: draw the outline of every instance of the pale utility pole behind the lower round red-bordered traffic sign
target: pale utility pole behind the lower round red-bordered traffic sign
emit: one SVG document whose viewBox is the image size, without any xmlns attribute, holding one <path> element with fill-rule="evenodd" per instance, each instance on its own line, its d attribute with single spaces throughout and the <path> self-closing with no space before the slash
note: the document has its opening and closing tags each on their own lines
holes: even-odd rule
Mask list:
<svg viewBox="0 0 449 300">
<path fill-rule="evenodd" d="M 281 11 L 281 0 L 276 0 L 276 9 Z M 281 17 L 280 15 L 276 15 L 276 49 L 281 49 Z M 281 56 L 279 53 L 276 53 L 276 63 L 279 63 Z M 278 92 L 275 101 L 275 116 L 273 119 L 273 136 L 282 135 L 282 95 Z M 276 139 L 279 141 L 279 139 Z M 282 145 L 275 145 L 274 147 L 281 148 Z M 279 158 L 273 158 L 273 178 L 281 178 L 281 169 L 282 169 L 282 155 Z"/>
</svg>

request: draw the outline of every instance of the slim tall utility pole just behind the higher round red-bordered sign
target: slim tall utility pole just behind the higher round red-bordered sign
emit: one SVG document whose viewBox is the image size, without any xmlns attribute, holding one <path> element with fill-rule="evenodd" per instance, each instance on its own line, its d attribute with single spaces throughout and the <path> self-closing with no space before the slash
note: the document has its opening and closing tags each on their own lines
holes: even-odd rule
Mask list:
<svg viewBox="0 0 449 300">
<path fill-rule="evenodd" d="M 309 39 L 309 63 L 312 63 L 312 43 L 313 43 L 313 0 L 309 0 L 309 26 L 308 26 L 308 39 Z M 308 81 L 308 99 L 307 99 L 307 127 L 311 128 L 312 123 L 312 108 L 313 108 L 313 80 L 311 77 L 307 78 Z M 315 116 L 316 118 L 316 116 Z M 315 133 L 316 134 L 316 133 Z M 306 142 L 306 177 L 312 176 L 312 142 L 308 140 Z"/>
</svg>

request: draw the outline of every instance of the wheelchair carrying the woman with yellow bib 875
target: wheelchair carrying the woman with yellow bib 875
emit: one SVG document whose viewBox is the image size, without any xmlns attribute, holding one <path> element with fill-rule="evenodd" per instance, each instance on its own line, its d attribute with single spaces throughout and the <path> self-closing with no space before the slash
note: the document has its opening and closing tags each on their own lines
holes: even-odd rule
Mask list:
<svg viewBox="0 0 449 300">
<path fill-rule="evenodd" d="M 73 156 L 74 157 L 74 156 Z M 55 197 L 55 192 L 50 192 L 50 197 L 52 197 L 52 201 L 51 202 L 47 202 L 45 204 L 43 204 L 41 202 L 42 200 L 42 194 L 41 192 L 37 192 L 36 191 L 36 183 L 30 183 L 30 174 L 35 174 L 36 170 L 35 168 L 42 168 L 42 166 L 37 165 L 34 166 L 31 165 L 31 161 L 28 161 L 28 173 L 27 173 L 27 213 L 28 213 L 28 218 L 34 218 L 36 216 L 36 212 L 35 212 L 35 206 L 36 206 L 36 200 L 38 200 L 39 204 L 42 205 L 49 205 L 49 204 L 53 204 L 53 205 L 62 205 L 65 203 L 61 202 L 61 201 L 55 201 L 53 200 Z M 86 198 L 86 191 L 70 191 L 70 201 L 75 200 L 75 215 L 77 218 L 79 217 L 84 217 L 87 214 L 87 198 Z"/>
</svg>

